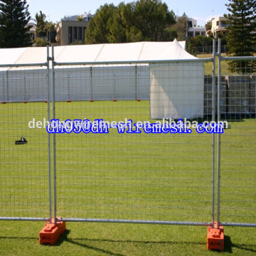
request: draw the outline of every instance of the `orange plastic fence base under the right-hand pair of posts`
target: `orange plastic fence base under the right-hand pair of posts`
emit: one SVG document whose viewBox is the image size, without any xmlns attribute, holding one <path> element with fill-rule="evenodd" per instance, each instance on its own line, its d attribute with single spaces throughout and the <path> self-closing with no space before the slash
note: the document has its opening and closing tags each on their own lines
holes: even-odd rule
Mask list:
<svg viewBox="0 0 256 256">
<path fill-rule="evenodd" d="M 213 227 L 208 227 L 207 233 L 207 250 L 224 250 L 224 228 L 220 226 L 217 228 L 216 223 Z"/>
</svg>

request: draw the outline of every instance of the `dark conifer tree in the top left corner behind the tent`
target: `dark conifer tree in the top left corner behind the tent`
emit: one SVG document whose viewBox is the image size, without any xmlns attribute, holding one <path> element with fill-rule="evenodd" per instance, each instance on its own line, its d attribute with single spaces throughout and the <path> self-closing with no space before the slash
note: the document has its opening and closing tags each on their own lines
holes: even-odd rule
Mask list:
<svg viewBox="0 0 256 256">
<path fill-rule="evenodd" d="M 31 46 L 31 20 L 26 0 L 0 1 L 0 48 Z"/>
</svg>

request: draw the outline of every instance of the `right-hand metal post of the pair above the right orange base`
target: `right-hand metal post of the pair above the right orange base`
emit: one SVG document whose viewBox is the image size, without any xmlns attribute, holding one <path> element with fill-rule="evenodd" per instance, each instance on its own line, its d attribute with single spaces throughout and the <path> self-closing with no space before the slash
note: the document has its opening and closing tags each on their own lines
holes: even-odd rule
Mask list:
<svg viewBox="0 0 256 256">
<path fill-rule="evenodd" d="M 221 39 L 218 38 L 218 123 L 220 122 Z M 220 133 L 218 133 L 217 228 L 220 228 Z"/>
</svg>

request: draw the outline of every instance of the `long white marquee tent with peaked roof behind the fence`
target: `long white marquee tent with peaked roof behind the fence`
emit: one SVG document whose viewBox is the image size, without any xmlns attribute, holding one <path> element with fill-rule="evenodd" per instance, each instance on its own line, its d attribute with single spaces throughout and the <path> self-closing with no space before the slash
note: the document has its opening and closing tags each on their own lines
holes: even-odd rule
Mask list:
<svg viewBox="0 0 256 256">
<path fill-rule="evenodd" d="M 187 118 L 203 115 L 203 65 L 195 65 L 195 63 L 99 65 L 99 62 L 195 58 L 184 48 L 185 42 L 176 40 L 174 42 L 56 46 L 54 48 L 56 63 L 90 63 L 90 65 L 55 66 L 55 99 L 65 101 L 91 98 L 94 100 L 112 100 L 113 98 L 149 100 L 150 98 L 151 118 L 179 118 L 183 117 L 183 114 L 188 114 Z M 0 64 L 46 63 L 46 57 L 46 48 L 0 49 Z M 163 68 L 168 69 L 164 71 L 164 74 L 168 75 L 168 82 L 162 76 Z M 172 75 L 171 70 L 173 70 Z M 183 72 L 187 73 L 186 77 Z M 0 101 L 46 100 L 46 74 L 46 67 L 0 68 Z M 191 78 L 188 74 L 192 75 Z M 174 75 L 173 77 L 179 80 L 172 79 L 170 75 Z M 181 85 L 187 85 L 187 87 Z M 175 97 L 171 94 L 171 88 L 174 87 L 183 93 L 179 103 L 175 101 L 177 94 Z M 186 89 L 189 90 L 186 91 Z M 179 95 L 181 96 L 181 93 Z M 188 95 L 190 95 L 189 98 Z M 188 102 L 188 112 L 185 110 L 188 106 L 184 100 L 192 100 L 192 97 L 195 107 L 191 109 L 191 102 Z M 182 106 L 184 110 L 181 111 L 178 106 Z"/>
</svg>

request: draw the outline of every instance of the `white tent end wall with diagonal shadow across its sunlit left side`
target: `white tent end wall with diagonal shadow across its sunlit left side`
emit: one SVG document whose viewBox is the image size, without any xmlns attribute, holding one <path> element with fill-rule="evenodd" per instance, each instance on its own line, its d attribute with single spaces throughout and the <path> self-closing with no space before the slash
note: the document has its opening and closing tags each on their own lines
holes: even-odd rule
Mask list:
<svg viewBox="0 0 256 256">
<path fill-rule="evenodd" d="M 203 117 L 203 63 L 150 64 L 151 119 Z"/>
</svg>

